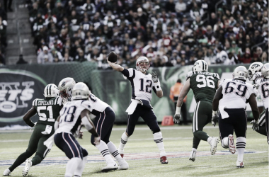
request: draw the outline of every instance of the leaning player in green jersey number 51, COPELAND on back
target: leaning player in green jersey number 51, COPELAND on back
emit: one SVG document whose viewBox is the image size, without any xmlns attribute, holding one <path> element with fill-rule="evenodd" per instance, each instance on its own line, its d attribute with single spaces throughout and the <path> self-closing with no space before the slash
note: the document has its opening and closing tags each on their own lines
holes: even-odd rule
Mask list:
<svg viewBox="0 0 269 177">
<path fill-rule="evenodd" d="M 55 129 L 53 125 L 59 116 L 59 111 L 62 108 L 62 98 L 58 96 L 59 89 L 55 84 L 48 84 L 44 89 L 45 98 L 37 98 L 33 101 L 33 106 L 23 116 L 23 120 L 30 127 L 35 127 L 33 131 L 28 148 L 23 154 L 18 156 L 16 161 L 4 171 L 4 176 L 9 176 L 10 173 L 21 165 L 25 160 L 25 168 L 23 169 L 23 176 L 26 176 L 31 166 L 40 164 L 45 158 L 50 149 L 47 148 L 43 142 L 54 134 Z M 38 114 L 38 122 L 33 123 L 30 120 L 33 115 Z M 35 153 L 36 152 L 36 153 Z M 32 160 L 28 159 L 35 153 Z"/>
</svg>

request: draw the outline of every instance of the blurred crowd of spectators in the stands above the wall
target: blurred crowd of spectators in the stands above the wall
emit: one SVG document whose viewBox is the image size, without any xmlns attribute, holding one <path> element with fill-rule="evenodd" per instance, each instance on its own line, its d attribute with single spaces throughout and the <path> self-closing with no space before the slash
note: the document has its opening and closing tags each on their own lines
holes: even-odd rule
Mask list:
<svg viewBox="0 0 269 177">
<path fill-rule="evenodd" d="M 153 67 L 268 62 L 268 1 L 218 1 L 28 1 L 38 63 L 106 69 L 110 51 L 126 67 L 142 55 Z"/>
</svg>

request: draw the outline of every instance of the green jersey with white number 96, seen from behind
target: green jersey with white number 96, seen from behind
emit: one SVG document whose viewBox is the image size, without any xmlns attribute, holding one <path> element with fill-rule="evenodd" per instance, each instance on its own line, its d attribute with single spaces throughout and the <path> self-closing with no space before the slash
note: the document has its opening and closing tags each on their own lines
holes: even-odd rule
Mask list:
<svg viewBox="0 0 269 177">
<path fill-rule="evenodd" d="M 195 101 L 213 101 L 217 90 L 219 74 L 210 72 L 188 72 L 186 80 L 190 79 Z"/>
</svg>

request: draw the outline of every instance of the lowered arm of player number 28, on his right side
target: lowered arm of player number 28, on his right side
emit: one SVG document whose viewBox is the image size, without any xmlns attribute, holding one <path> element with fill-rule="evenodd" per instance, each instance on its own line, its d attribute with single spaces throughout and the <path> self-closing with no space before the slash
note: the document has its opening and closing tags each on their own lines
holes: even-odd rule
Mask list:
<svg viewBox="0 0 269 177">
<path fill-rule="evenodd" d="M 94 136 L 94 144 L 99 144 L 101 139 L 96 132 L 96 127 L 93 125 L 93 122 L 91 122 L 90 113 L 89 110 L 82 110 L 80 114 L 81 122 L 84 124 L 86 130 Z"/>
</svg>

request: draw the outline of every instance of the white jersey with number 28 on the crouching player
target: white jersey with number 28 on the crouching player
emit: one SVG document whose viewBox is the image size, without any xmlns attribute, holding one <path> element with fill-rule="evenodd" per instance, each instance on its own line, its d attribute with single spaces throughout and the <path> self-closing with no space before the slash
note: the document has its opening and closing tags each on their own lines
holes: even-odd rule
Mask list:
<svg viewBox="0 0 269 177">
<path fill-rule="evenodd" d="M 64 104 L 64 107 L 59 112 L 61 116 L 59 120 L 59 128 L 56 130 L 59 132 L 74 133 L 81 125 L 80 114 L 82 110 L 89 110 L 92 112 L 92 106 L 90 101 L 75 100 L 69 101 Z"/>
</svg>

